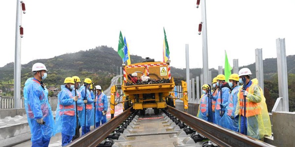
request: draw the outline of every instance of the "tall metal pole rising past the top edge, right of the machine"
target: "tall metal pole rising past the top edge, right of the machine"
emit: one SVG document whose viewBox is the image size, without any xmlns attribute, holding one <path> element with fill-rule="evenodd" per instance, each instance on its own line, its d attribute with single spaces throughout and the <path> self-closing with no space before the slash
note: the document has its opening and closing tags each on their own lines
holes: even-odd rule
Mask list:
<svg viewBox="0 0 295 147">
<path fill-rule="evenodd" d="M 206 18 L 206 0 L 201 2 L 201 15 L 202 15 L 202 45 L 203 45 L 203 73 L 204 83 L 209 83 L 208 80 L 208 47 L 207 47 L 207 18 Z M 202 78 L 202 77 L 201 77 Z"/>
</svg>

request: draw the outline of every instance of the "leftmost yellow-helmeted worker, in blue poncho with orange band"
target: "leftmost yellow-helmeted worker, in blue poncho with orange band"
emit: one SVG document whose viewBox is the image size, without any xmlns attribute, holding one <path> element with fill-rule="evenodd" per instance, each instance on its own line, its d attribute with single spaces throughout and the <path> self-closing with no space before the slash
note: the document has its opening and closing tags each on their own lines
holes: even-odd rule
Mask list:
<svg viewBox="0 0 295 147">
<path fill-rule="evenodd" d="M 61 132 L 62 147 L 70 143 L 75 135 L 77 121 L 75 101 L 78 100 L 78 97 L 72 94 L 74 84 L 73 78 L 66 77 L 64 79 L 64 85 L 61 85 L 61 91 L 58 95 L 59 102 L 56 112 L 54 134 Z"/>
</svg>

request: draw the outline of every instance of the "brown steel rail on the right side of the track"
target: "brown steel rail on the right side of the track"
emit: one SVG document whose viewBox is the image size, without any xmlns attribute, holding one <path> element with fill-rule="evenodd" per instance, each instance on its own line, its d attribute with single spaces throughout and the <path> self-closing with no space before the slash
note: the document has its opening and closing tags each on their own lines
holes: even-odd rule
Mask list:
<svg viewBox="0 0 295 147">
<path fill-rule="evenodd" d="M 198 119 L 168 105 L 167 110 L 221 147 L 275 147 L 249 136 L 225 129 L 217 124 Z"/>
</svg>

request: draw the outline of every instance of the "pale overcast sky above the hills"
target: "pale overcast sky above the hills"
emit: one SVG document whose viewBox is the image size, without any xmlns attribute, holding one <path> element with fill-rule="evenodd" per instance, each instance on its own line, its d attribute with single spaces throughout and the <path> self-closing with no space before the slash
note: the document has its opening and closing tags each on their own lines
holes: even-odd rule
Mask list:
<svg viewBox="0 0 295 147">
<path fill-rule="evenodd" d="M 202 68 L 201 7 L 197 0 L 24 0 L 21 62 L 52 58 L 67 52 L 106 45 L 118 50 L 119 31 L 130 54 L 162 60 L 163 27 L 171 65 L 185 68 L 189 44 L 190 68 Z M 202 2 L 203 0 L 201 0 Z M 295 0 L 206 0 L 209 68 L 276 58 L 276 39 L 286 39 L 286 54 L 295 54 Z M 0 4 L 0 67 L 14 62 L 16 0 Z M 116 56 L 116 58 L 120 58 Z M 275 65 L 276 66 L 276 65 Z"/>
</svg>

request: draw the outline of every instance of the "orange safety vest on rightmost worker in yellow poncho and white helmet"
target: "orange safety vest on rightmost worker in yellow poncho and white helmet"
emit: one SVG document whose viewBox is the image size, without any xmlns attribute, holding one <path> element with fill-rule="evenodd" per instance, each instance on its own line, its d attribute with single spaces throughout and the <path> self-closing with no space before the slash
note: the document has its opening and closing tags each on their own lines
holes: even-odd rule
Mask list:
<svg viewBox="0 0 295 147">
<path fill-rule="evenodd" d="M 246 91 L 249 94 L 253 94 L 254 93 L 254 84 L 252 82 L 250 87 L 247 87 Z M 243 96 L 243 92 L 241 92 L 241 88 L 239 90 L 239 115 L 244 116 L 244 96 Z M 246 116 L 245 117 L 251 117 L 251 116 L 255 116 L 255 115 L 259 115 L 261 114 L 261 108 L 259 106 L 259 103 L 256 102 L 252 102 L 250 100 L 248 100 L 248 98 L 246 97 Z"/>
</svg>

